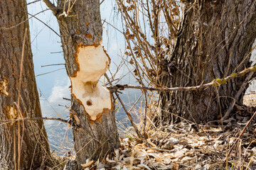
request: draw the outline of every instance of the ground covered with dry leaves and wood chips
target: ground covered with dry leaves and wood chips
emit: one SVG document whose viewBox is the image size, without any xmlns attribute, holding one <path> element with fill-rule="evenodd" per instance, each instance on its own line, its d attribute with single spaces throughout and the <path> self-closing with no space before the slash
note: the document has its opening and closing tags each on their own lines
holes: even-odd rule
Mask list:
<svg viewBox="0 0 256 170">
<path fill-rule="evenodd" d="M 246 95 L 244 103 L 256 106 L 256 94 Z M 246 106 L 235 106 L 233 118 L 223 122 L 178 123 L 149 130 L 147 145 L 134 137 L 121 137 L 122 147 L 114 151 L 114 157 L 107 157 L 101 163 L 87 160 L 82 166 L 86 170 L 256 169 L 256 119 L 238 139 L 254 111 Z M 70 162 L 69 159 L 67 167 Z"/>
</svg>

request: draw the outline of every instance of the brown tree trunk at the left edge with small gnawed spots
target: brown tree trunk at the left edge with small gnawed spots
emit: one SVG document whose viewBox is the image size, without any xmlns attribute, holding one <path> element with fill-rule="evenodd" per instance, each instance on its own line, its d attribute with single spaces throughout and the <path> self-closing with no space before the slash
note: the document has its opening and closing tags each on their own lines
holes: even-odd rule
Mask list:
<svg viewBox="0 0 256 170">
<path fill-rule="evenodd" d="M 29 26 L 26 19 L 28 19 L 26 1 L 1 1 L 1 120 L 37 118 L 42 116 L 38 91 L 36 89 L 36 79 L 33 72 Z M 26 42 L 23 51 L 22 46 L 25 34 Z M 19 91 L 18 84 L 20 81 L 22 51 L 23 69 L 21 89 Z M 19 92 L 20 104 L 18 110 L 16 104 L 18 104 Z M 43 120 L 27 120 L 24 123 L 3 123 L 0 125 L 0 147 L 0 169 L 36 169 L 40 167 L 42 162 L 49 159 L 50 155 Z M 18 148 L 21 150 L 20 152 Z"/>
</svg>

